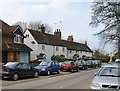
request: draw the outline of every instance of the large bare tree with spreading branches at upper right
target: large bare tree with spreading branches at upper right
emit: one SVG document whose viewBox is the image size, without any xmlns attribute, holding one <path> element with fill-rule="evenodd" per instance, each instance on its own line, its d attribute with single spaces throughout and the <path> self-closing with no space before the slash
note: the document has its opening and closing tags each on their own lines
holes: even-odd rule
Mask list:
<svg viewBox="0 0 120 91">
<path fill-rule="evenodd" d="M 96 35 L 105 40 L 105 43 L 115 42 L 120 51 L 120 1 L 93 2 L 90 25 L 97 27 L 104 25 Z M 119 54 L 120 57 L 120 54 Z"/>
</svg>

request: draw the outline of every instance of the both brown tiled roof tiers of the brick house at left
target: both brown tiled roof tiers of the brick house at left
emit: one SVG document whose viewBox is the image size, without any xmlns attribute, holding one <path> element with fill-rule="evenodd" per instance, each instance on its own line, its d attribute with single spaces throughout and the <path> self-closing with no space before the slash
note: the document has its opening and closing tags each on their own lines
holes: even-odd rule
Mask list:
<svg viewBox="0 0 120 91">
<path fill-rule="evenodd" d="M 4 35 L 7 35 L 9 37 L 14 37 L 13 32 L 18 28 L 18 25 L 9 26 L 4 21 L 0 20 L 0 28 L 2 29 L 2 35 L 3 35 L 2 37 L 4 37 Z M 26 46 L 25 44 L 7 43 L 5 41 L 2 41 L 2 50 L 3 51 L 8 51 L 8 50 L 9 51 L 32 51 L 32 49 Z"/>
</svg>

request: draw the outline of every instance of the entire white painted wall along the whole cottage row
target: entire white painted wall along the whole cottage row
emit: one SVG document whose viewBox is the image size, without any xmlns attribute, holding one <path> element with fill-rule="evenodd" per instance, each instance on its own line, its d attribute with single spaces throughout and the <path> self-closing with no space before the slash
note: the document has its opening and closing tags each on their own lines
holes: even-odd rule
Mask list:
<svg viewBox="0 0 120 91">
<path fill-rule="evenodd" d="M 66 58 L 72 59 L 75 54 L 79 54 L 80 58 L 82 58 L 83 55 L 86 55 L 87 57 L 92 57 L 92 53 L 90 52 L 84 52 L 84 51 L 76 51 L 75 50 L 67 50 L 67 47 L 63 46 L 53 46 L 53 45 L 46 45 L 46 44 L 38 44 L 34 37 L 31 35 L 29 30 L 27 30 L 24 35 L 29 34 L 29 37 L 26 37 L 24 39 L 24 44 L 26 44 L 28 47 L 30 47 L 33 51 L 31 52 L 31 60 L 35 60 L 37 55 L 40 53 L 46 54 L 46 59 L 51 59 L 51 56 L 53 55 L 65 55 Z M 35 44 L 32 44 L 31 42 L 34 41 Z M 45 50 L 42 50 L 42 46 L 45 46 Z M 58 47 L 58 51 L 56 51 L 56 47 Z"/>
</svg>

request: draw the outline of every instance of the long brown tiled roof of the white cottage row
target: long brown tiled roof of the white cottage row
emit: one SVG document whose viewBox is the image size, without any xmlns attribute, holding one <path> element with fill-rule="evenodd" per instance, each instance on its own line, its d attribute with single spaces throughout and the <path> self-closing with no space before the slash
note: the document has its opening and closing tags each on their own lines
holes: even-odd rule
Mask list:
<svg viewBox="0 0 120 91">
<path fill-rule="evenodd" d="M 44 33 L 42 34 L 39 31 L 28 29 L 34 39 L 38 44 L 47 44 L 53 46 L 64 46 L 67 47 L 68 50 L 76 50 L 76 51 L 86 51 L 92 52 L 92 50 L 86 45 L 78 42 L 72 42 L 68 40 L 62 40 L 60 37 Z"/>
</svg>

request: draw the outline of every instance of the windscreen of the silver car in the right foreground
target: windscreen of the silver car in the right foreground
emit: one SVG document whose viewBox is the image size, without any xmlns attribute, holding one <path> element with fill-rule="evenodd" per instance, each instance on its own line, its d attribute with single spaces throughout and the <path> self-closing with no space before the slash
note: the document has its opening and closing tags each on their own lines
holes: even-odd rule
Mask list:
<svg viewBox="0 0 120 91">
<path fill-rule="evenodd" d="M 118 67 L 103 67 L 99 71 L 98 76 L 120 77 L 120 68 L 118 68 Z"/>
</svg>

